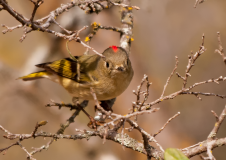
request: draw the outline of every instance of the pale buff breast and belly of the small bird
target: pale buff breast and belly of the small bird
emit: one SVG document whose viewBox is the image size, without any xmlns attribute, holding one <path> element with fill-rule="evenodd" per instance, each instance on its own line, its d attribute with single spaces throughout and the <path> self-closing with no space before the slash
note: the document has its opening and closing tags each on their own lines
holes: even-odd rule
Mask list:
<svg viewBox="0 0 226 160">
<path fill-rule="evenodd" d="M 91 83 L 78 83 L 68 78 L 59 77 L 60 83 L 73 97 L 83 100 L 93 100 L 90 88 L 92 87 L 98 100 L 109 100 L 119 96 L 126 90 L 132 77 L 92 77 Z"/>
</svg>

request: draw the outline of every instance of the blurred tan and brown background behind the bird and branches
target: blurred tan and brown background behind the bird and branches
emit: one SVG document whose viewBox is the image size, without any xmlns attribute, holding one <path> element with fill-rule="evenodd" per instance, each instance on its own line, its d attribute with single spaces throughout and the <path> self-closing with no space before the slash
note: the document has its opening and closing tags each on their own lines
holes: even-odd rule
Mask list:
<svg viewBox="0 0 226 160">
<path fill-rule="evenodd" d="M 33 4 L 29 1 L 8 0 L 9 4 L 26 17 L 31 16 Z M 38 9 L 35 19 L 42 18 L 56 9 L 67 0 L 45 1 Z M 135 75 L 128 89 L 120 95 L 114 112 L 126 114 L 136 100 L 132 90 L 137 89 L 144 74 L 149 76 L 151 102 L 162 93 L 163 86 L 175 65 L 175 56 L 179 57 L 178 72 L 183 76 L 188 55 L 196 52 L 201 44 L 202 34 L 205 33 L 205 47 L 207 51 L 196 61 L 191 70 L 188 86 L 195 82 L 226 76 L 226 66 L 219 54 L 214 53 L 218 48 L 217 32 L 220 31 L 223 47 L 226 48 L 226 1 L 205 1 L 193 8 L 195 0 L 132 0 L 132 5 L 139 6 L 134 10 L 134 30 L 131 48 L 131 61 Z M 84 25 L 98 22 L 102 25 L 120 27 L 120 8 L 115 6 L 97 14 L 85 14 L 75 7 L 57 18 L 57 21 L 68 30 L 78 30 Z M 19 23 L 7 12 L 0 12 L 0 23 L 15 26 Z M 51 29 L 61 31 L 57 26 Z M 4 30 L 4 28 L 1 28 Z M 81 38 L 90 33 L 90 27 L 81 33 Z M 72 114 L 67 108 L 59 110 L 57 107 L 46 108 L 45 104 L 53 99 L 56 102 L 71 103 L 71 96 L 58 84 L 42 79 L 32 82 L 23 82 L 16 78 L 37 71 L 35 64 L 68 57 L 66 41 L 55 36 L 32 32 L 20 43 L 23 29 L 14 30 L 5 35 L 0 34 L 0 125 L 12 133 L 31 133 L 36 122 L 48 120 L 48 124 L 40 130 L 55 133 L 60 124 L 65 123 Z M 92 39 L 91 46 L 102 52 L 111 45 L 119 45 L 119 34 L 113 31 L 100 30 Z M 85 48 L 79 43 L 69 44 L 73 55 L 82 55 Z M 165 92 L 165 95 L 180 90 L 181 79 L 174 76 Z M 194 91 L 226 94 L 226 82 L 204 84 Z M 154 114 L 142 115 L 138 118 L 139 124 L 148 133 L 156 133 L 164 123 L 177 112 L 181 115 L 174 119 L 165 130 L 157 136 L 158 142 L 164 149 L 168 147 L 184 148 L 196 144 L 207 138 L 212 130 L 215 117 L 211 110 L 218 115 L 225 107 L 225 100 L 217 97 L 203 97 L 202 101 L 195 96 L 183 95 L 175 99 L 162 102 L 155 107 L 160 111 Z M 90 102 L 86 110 L 94 115 L 94 103 Z M 75 119 L 75 123 L 65 131 L 65 134 L 75 134 L 75 128 L 87 129 L 88 118 L 83 114 Z M 9 146 L 13 141 L 2 137 L 0 131 L 0 148 Z M 142 141 L 137 131 L 129 133 L 131 137 Z M 220 128 L 217 137 L 226 137 L 226 122 Z M 30 139 L 22 144 L 31 151 L 46 144 L 49 139 Z M 154 144 L 152 144 L 154 145 Z M 225 159 L 226 147 L 214 149 L 217 160 Z M 122 146 L 111 141 L 102 144 L 99 137 L 84 140 L 58 140 L 48 151 L 42 151 L 35 156 L 37 159 L 84 159 L 84 160 L 120 160 L 146 159 L 138 152 L 123 149 Z M 19 146 L 10 148 L 0 159 L 25 159 L 26 154 Z M 192 160 L 200 159 L 199 156 Z"/>
</svg>

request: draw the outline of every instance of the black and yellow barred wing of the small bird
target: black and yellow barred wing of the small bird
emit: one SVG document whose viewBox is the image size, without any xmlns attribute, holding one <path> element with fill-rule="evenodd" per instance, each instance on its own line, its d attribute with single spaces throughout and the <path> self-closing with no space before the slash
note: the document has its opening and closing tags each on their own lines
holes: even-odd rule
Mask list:
<svg viewBox="0 0 226 160">
<path fill-rule="evenodd" d="M 77 56 L 75 56 L 78 59 Z M 44 68 L 47 71 L 53 72 L 59 76 L 72 79 L 78 83 L 90 83 L 91 79 L 85 73 L 83 73 L 80 69 L 80 73 L 78 72 L 79 64 L 77 61 L 74 61 L 70 58 L 65 58 L 61 60 L 57 60 L 54 62 L 47 62 L 36 65 L 39 68 Z M 78 77 L 79 76 L 79 77 Z"/>
</svg>

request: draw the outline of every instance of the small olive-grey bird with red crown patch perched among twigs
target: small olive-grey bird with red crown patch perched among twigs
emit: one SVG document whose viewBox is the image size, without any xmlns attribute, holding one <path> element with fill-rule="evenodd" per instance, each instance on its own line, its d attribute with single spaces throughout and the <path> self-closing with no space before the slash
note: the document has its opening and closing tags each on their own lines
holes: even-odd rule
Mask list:
<svg viewBox="0 0 226 160">
<path fill-rule="evenodd" d="M 107 48 L 103 55 L 75 56 L 36 65 L 43 71 L 20 77 L 24 81 L 48 78 L 62 85 L 73 97 L 92 100 L 92 87 L 98 100 L 119 96 L 130 84 L 133 68 L 128 54 L 121 47 Z"/>
</svg>

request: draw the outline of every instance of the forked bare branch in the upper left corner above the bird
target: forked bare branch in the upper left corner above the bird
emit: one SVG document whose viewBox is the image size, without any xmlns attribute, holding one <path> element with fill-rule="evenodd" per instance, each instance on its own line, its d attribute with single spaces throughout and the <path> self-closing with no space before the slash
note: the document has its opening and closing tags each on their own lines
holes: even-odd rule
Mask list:
<svg viewBox="0 0 226 160">
<path fill-rule="evenodd" d="M 56 22 L 56 18 L 61 15 L 62 13 L 68 11 L 69 9 L 75 7 L 75 6 L 79 6 L 80 8 L 82 9 L 86 9 L 86 7 L 91 7 L 93 6 L 94 4 L 101 4 L 102 0 L 85 0 L 85 1 L 82 1 L 82 2 L 69 2 L 67 4 L 62 4 L 61 7 L 58 7 L 56 10 L 50 12 L 49 15 L 41 18 L 41 19 L 38 19 L 38 20 L 35 20 L 33 21 L 34 19 L 34 16 L 35 16 L 35 13 L 38 9 L 38 7 L 43 3 L 43 0 L 37 0 L 37 2 L 33 1 L 33 0 L 30 0 L 31 2 L 34 3 L 34 10 L 32 12 L 32 15 L 31 15 L 31 18 L 28 19 L 26 17 L 24 17 L 22 14 L 18 13 L 16 10 L 14 10 L 8 3 L 6 3 L 4 0 L 0 0 L 0 3 L 1 5 L 3 6 L 3 9 L 6 10 L 9 14 L 11 14 L 17 21 L 19 21 L 22 26 L 28 26 L 30 27 L 31 29 L 29 29 L 28 31 L 24 32 L 22 38 L 20 39 L 20 41 L 22 42 L 25 37 L 26 37 L 26 34 L 27 33 L 30 33 L 32 31 L 42 31 L 42 32 L 47 32 L 47 33 L 51 33 L 51 34 L 54 34 L 55 36 L 57 37 L 61 37 L 61 38 L 65 38 L 65 39 L 69 39 L 71 40 L 71 37 L 70 34 L 74 33 L 73 31 L 68 31 L 66 30 L 65 28 L 63 28 L 59 23 Z M 81 7 L 82 5 L 85 4 L 85 8 Z M 92 9 L 95 9 L 95 6 L 94 5 L 94 8 L 91 7 Z M 104 5 L 100 5 L 102 6 L 102 8 L 100 7 L 99 9 L 103 10 L 105 8 L 108 8 L 108 7 L 104 7 Z M 96 9 L 95 9 L 96 10 Z M 65 35 L 65 34 L 62 34 L 62 33 L 59 33 L 59 32 L 56 32 L 56 31 L 53 31 L 53 30 L 50 30 L 48 29 L 50 27 L 50 25 L 52 23 L 55 23 L 57 24 L 62 30 L 66 31 L 69 35 Z M 16 27 L 11 27 L 13 29 L 16 29 L 16 28 L 20 28 L 22 27 L 21 25 L 18 25 Z M 9 28 L 9 27 L 8 27 Z M 12 30 L 11 30 L 12 31 Z M 4 33 L 6 33 L 4 31 Z M 74 37 L 74 39 L 77 41 L 77 42 L 80 42 L 80 38 L 77 38 L 77 37 Z M 81 42 L 80 42 L 81 43 Z M 82 43 L 83 46 L 86 46 L 85 44 Z M 87 46 L 86 46 L 87 47 Z M 92 49 L 91 47 L 89 49 Z M 94 51 L 95 52 L 95 51 Z M 96 53 L 96 52 L 95 52 Z"/>
</svg>

